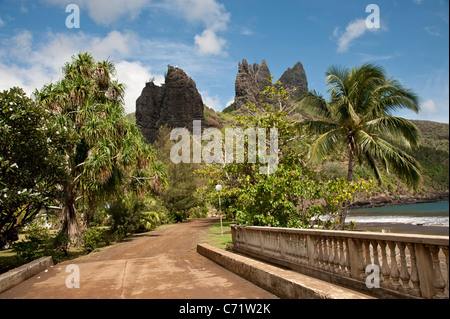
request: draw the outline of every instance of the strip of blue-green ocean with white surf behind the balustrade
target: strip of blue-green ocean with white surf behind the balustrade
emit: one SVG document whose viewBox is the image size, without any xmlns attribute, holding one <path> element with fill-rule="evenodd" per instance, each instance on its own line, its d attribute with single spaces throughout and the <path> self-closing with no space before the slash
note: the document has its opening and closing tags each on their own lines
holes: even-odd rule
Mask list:
<svg viewBox="0 0 450 319">
<path fill-rule="evenodd" d="M 425 203 L 405 206 L 350 210 L 346 222 L 403 223 L 424 226 L 449 226 L 449 203 Z"/>
</svg>

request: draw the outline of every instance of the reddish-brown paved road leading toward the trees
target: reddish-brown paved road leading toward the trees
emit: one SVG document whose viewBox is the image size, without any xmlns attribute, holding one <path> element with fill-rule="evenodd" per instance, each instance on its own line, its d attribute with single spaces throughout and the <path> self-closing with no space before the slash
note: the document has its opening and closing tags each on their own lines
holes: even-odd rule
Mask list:
<svg viewBox="0 0 450 319">
<path fill-rule="evenodd" d="M 276 296 L 197 254 L 214 219 L 200 219 L 134 236 L 82 258 L 57 264 L 0 294 L 49 299 L 272 299 Z M 69 289 L 70 264 L 80 288 Z"/>
</svg>

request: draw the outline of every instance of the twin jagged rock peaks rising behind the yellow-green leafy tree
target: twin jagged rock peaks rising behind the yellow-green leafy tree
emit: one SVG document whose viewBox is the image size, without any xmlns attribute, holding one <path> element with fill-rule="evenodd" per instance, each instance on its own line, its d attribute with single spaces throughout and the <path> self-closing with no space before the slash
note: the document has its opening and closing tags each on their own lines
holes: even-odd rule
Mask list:
<svg viewBox="0 0 450 319">
<path fill-rule="evenodd" d="M 239 110 L 247 104 L 247 102 L 258 105 L 260 101 L 260 92 L 268 85 L 269 76 L 271 75 L 267 62 L 262 60 L 261 64 L 249 65 L 244 59 L 239 62 L 238 74 L 235 83 L 235 110 Z M 301 62 L 297 62 L 291 69 L 289 68 L 279 79 L 285 89 L 293 96 L 308 91 L 308 81 L 306 72 Z"/>
</svg>

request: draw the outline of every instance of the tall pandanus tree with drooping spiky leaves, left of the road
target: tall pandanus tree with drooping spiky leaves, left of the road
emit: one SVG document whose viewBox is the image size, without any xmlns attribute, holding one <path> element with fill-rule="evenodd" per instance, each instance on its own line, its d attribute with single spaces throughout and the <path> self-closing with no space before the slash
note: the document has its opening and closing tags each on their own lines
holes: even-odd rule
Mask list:
<svg viewBox="0 0 450 319">
<path fill-rule="evenodd" d="M 152 190 L 161 166 L 139 129 L 125 118 L 124 86 L 114 80 L 114 65 L 89 53 L 72 57 L 62 79 L 35 93 L 57 119 L 67 139 L 61 145 L 66 175 L 61 187 L 61 232 L 75 240 L 81 228 L 77 207 L 87 207 L 85 225 L 99 203 L 124 184 Z M 81 200 L 84 205 L 77 205 Z"/>
</svg>

